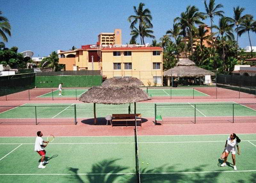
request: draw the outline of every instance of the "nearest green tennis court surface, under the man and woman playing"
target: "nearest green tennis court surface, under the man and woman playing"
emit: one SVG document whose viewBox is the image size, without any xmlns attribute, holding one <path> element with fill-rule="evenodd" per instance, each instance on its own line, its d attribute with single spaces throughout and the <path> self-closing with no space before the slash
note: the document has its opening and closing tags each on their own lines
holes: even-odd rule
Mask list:
<svg viewBox="0 0 256 183">
<path fill-rule="evenodd" d="M 256 134 L 237 135 L 242 140 L 237 171 L 230 155 L 227 166 L 220 167 L 228 135 L 138 136 L 140 180 L 254 182 Z M 40 156 L 34 141 L 0 138 L 1 182 L 137 182 L 134 136 L 55 137 L 45 148 L 45 169 L 37 168 Z"/>
</svg>

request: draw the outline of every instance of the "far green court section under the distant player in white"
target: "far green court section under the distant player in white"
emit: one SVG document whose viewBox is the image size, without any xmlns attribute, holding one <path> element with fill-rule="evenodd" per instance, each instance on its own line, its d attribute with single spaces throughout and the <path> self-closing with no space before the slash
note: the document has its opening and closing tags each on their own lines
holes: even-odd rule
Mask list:
<svg viewBox="0 0 256 183">
<path fill-rule="evenodd" d="M 59 90 L 54 90 L 53 92 L 51 91 L 49 93 L 45 93 L 36 98 L 51 98 L 52 95 L 53 95 L 53 97 L 76 97 L 76 96 L 80 97 L 87 90 L 88 89 L 63 89 L 62 96 L 59 96 Z"/>
</svg>

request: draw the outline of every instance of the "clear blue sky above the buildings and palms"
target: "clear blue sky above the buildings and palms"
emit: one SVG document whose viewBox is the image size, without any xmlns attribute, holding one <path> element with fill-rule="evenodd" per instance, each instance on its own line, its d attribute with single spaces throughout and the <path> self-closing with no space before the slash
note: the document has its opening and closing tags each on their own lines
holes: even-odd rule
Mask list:
<svg viewBox="0 0 256 183">
<path fill-rule="evenodd" d="M 130 23 L 127 18 L 134 15 L 133 6 L 145 4 L 151 11 L 153 31 L 156 40 L 172 28 L 173 19 L 180 16 L 188 5 L 196 5 L 205 12 L 203 0 L 166 0 L 166 1 L 14 1 L 1 0 L 3 16 L 9 19 L 12 36 L 5 43 L 7 48 L 16 46 L 18 52 L 31 50 L 34 56 L 47 56 L 52 51 L 68 50 L 75 46 L 95 44 L 101 32 L 114 32 L 122 29 L 122 43 L 129 43 Z M 208 0 L 207 0 L 208 2 Z M 256 0 L 215 0 L 222 4 L 225 16 L 233 17 L 233 7 L 244 7 L 244 14 L 256 19 Z M 219 17 L 214 18 L 218 24 Z M 204 22 L 210 25 L 210 20 Z M 235 34 L 236 35 L 236 34 Z M 252 46 L 256 46 L 256 34 L 250 32 Z M 2 41 L 2 40 L 1 40 Z M 137 39 L 140 42 L 140 39 Z M 238 38 L 241 48 L 249 46 L 248 34 Z M 145 39 L 152 43 L 152 39 Z"/>
</svg>

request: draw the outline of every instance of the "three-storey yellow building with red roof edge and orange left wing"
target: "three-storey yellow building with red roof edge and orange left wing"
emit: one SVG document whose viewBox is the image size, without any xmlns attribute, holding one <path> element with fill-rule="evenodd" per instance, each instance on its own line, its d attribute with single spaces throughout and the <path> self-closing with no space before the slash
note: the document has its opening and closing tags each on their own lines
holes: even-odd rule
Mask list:
<svg viewBox="0 0 256 183">
<path fill-rule="evenodd" d="M 100 70 L 103 79 L 137 77 L 145 86 L 163 83 L 163 48 L 145 45 L 85 45 L 60 51 L 59 63 L 66 70 Z"/>
</svg>

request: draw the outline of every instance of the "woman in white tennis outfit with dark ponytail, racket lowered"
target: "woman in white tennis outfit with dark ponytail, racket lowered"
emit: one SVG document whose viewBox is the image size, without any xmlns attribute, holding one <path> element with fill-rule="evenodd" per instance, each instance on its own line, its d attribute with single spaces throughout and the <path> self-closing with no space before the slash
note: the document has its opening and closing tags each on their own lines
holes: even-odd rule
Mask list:
<svg viewBox="0 0 256 183">
<path fill-rule="evenodd" d="M 230 134 L 230 136 L 228 137 L 228 139 L 226 140 L 226 144 L 225 144 L 225 158 L 224 158 L 224 162 L 220 165 L 220 166 L 226 166 L 226 162 L 227 162 L 227 158 L 228 158 L 228 154 L 231 152 L 232 154 L 232 160 L 233 160 L 233 165 L 234 165 L 234 170 L 237 170 L 236 168 L 236 147 L 237 147 L 237 154 L 240 155 L 240 148 L 238 146 L 238 143 L 240 143 L 241 140 L 238 138 L 238 136 L 236 136 L 236 134 L 232 133 Z"/>
</svg>

